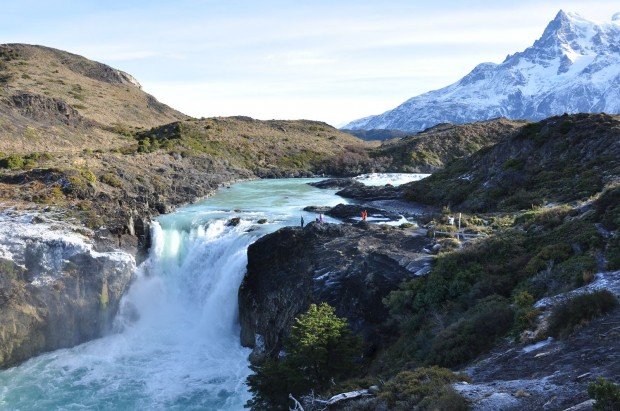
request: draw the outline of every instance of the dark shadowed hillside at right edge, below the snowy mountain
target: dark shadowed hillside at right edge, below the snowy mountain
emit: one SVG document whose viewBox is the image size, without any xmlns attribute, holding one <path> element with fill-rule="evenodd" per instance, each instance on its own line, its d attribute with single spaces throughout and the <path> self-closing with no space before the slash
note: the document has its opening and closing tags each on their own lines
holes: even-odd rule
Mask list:
<svg viewBox="0 0 620 411">
<path fill-rule="evenodd" d="M 620 116 L 551 117 L 405 185 L 411 201 L 514 211 L 586 200 L 620 182 Z"/>
</svg>

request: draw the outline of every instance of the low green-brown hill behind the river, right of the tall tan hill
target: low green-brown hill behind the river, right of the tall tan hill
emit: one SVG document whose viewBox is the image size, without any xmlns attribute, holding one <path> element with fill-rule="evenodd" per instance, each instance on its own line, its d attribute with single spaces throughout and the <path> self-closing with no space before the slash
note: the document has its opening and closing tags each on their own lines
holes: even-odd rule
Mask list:
<svg viewBox="0 0 620 411">
<path fill-rule="evenodd" d="M 135 134 L 137 150 L 226 159 L 259 176 L 356 173 L 371 145 L 325 123 L 218 117 L 174 122 Z"/>
</svg>

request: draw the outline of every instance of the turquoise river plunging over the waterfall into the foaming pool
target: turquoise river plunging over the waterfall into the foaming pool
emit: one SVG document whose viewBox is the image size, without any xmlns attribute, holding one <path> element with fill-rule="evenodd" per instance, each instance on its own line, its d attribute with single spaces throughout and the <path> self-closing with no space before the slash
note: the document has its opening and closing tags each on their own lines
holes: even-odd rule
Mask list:
<svg viewBox="0 0 620 411">
<path fill-rule="evenodd" d="M 0 372 L 3 409 L 238 410 L 249 398 L 237 290 L 258 237 L 335 205 L 310 180 L 236 184 L 153 224 L 149 258 L 122 300 L 115 332 Z M 240 217 L 239 224 L 227 224 Z M 258 224 L 267 219 L 267 224 Z"/>
</svg>

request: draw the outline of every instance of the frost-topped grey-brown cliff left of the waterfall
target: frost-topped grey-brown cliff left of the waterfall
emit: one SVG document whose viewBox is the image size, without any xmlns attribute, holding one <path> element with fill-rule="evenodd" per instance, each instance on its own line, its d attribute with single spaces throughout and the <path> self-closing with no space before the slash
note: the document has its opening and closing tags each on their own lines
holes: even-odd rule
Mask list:
<svg viewBox="0 0 620 411">
<path fill-rule="evenodd" d="M 0 367 L 111 329 L 135 261 L 96 251 L 82 230 L 36 214 L 0 214 Z"/>
</svg>

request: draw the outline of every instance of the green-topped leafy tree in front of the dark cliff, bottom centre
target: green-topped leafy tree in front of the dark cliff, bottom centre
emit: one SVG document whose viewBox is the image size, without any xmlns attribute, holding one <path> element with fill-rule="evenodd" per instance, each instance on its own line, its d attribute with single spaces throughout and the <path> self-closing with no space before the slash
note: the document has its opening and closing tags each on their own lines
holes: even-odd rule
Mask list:
<svg viewBox="0 0 620 411">
<path fill-rule="evenodd" d="M 288 409 L 288 395 L 304 395 L 329 388 L 332 381 L 356 370 L 360 341 L 347 320 L 327 303 L 312 304 L 295 319 L 284 344 L 286 354 L 252 366 L 248 386 L 254 398 L 252 409 Z"/>
</svg>

